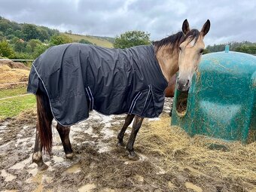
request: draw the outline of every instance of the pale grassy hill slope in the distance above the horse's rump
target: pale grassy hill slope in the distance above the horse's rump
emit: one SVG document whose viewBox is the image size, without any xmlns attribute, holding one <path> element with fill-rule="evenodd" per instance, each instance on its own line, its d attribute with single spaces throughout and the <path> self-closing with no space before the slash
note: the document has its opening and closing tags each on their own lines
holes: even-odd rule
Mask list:
<svg viewBox="0 0 256 192">
<path fill-rule="evenodd" d="M 93 37 L 89 35 L 76 35 L 76 34 L 69 34 L 69 33 L 62 33 L 63 35 L 67 35 L 69 38 L 72 38 L 72 41 L 80 41 L 81 39 L 85 39 L 90 41 L 92 44 L 96 44 L 101 47 L 108 47 L 112 48 L 113 44 L 110 41 L 107 41 L 103 38 Z"/>
</svg>

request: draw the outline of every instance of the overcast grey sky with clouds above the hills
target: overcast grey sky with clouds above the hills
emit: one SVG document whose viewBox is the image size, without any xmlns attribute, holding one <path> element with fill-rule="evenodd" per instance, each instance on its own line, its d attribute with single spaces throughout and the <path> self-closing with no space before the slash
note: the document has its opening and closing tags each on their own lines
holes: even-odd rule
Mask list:
<svg viewBox="0 0 256 192">
<path fill-rule="evenodd" d="M 0 0 L 0 16 L 18 23 L 34 23 L 64 32 L 115 37 L 142 30 L 152 40 L 211 21 L 206 44 L 256 42 L 256 1 L 172 0 Z"/>
</svg>

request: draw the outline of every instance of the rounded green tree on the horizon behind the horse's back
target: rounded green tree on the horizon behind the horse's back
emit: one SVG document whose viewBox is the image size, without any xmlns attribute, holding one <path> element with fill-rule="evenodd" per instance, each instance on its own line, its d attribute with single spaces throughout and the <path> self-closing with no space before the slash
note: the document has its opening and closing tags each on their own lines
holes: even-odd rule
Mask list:
<svg viewBox="0 0 256 192">
<path fill-rule="evenodd" d="M 130 31 L 117 36 L 114 40 L 114 48 L 129 48 L 142 44 L 151 44 L 150 34 L 142 31 Z"/>
</svg>

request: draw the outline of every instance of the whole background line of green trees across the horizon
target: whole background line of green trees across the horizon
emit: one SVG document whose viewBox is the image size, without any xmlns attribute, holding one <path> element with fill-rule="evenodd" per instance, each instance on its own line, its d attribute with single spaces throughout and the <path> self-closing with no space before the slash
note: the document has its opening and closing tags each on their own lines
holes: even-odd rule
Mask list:
<svg viewBox="0 0 256 192">
<path fill-rule="evenodd" d="M 71 30 L 66 33 L 72 33 Z M 129 31 L 116 36 L 105 38 L 113 42 L 114 48 L 127 48 L 140 44 L 151 44 L 150 34 L 142 31 Z M 35 59 L 48 47 L 58 44 L 71 43 L 72 38 L 60 34 L 57 29 L 36 26 L 28 23 L 16 23 L 0 17 L 0 57 L 8 59 Z M 91 44 L 81 39 L 80 43 Z M 256 43 L 249 41 L 231 42 L 230 50 L 256 54 Z M 203 53 L 223 51 L 226 44 L 214 44 L 206 47 Z"/>
</svg>

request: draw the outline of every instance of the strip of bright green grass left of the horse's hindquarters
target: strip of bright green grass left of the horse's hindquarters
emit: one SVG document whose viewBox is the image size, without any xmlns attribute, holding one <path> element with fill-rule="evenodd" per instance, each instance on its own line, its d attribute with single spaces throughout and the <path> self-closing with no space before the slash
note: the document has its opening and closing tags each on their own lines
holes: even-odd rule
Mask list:
<svg viewBox="0 0 256 192">
<path fill-rule="evenodd" d="M 35 103 L 34 95 L 0 100 L 0 120 L 17 116 L 20 112 L 35 107 Z"/>
</svg>

